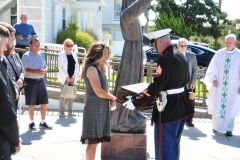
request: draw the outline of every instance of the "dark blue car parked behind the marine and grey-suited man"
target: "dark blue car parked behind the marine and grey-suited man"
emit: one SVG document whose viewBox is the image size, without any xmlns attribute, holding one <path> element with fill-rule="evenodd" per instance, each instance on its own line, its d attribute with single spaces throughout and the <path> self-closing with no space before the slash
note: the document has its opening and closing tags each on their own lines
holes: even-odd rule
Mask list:
<svg viewBox="0 0 240 160">
<path fill-rule="evenodd" d="M 178 43 L 177 40 L 172 40 L 172 44 L 175 47 L 177 47 L 177 43 Z M 216 51 L 211 48 L 207 48 L 202 45 L 193 44 L 191 42 L 188 43 L 187 50 L 196 54 L 198 66 L 202 66 L 202 67 L 208 67 L 212 57 L 216 53 Z M 159 54 L 155 50 L 153 50 L 152 47 L 145 46 L 145 52 L 147 54 L 148 62 L 151 60 L 153 60 L 153 62 L 155 63 L 157 62 L 159 58 Z"/>
</svg>

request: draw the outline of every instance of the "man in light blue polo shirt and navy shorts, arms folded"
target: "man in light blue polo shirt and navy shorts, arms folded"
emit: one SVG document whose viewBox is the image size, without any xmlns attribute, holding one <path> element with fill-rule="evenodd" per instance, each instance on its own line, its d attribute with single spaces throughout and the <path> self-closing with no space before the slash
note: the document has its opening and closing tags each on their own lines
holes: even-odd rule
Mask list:
<svg viewBox="0 0 240 160">
<path fill-rule="evenodd" d="M 45 122 L 48 93 L 44 81 L 44 75 L 47 73 L 47 64 L 44 54 L 40 51 L 40 41 L 37 38 L 30 40 L 30 50 L 22 57 L 22 64 L 25 70 L 25 105 L 28 105 L 28 113 L 30 118 L 29 130 L 36 130 L 34 123 L 34 106 L 40 105 L 41 122 L 40 129 L 52 129 Z"/>
</svg>

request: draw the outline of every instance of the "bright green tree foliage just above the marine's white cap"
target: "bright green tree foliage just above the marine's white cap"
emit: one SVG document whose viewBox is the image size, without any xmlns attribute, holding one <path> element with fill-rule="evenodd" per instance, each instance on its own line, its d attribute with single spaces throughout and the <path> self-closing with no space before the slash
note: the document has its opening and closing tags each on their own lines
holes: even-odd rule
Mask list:
<svg viewBox="0 0 240 160">
<path fill-rule="evenodd" d="M 169 14 L 162 13 L 160 17 L 155 20 L 155 29 L 171 28 L 171 34 L 189 39 L 192 34 L 192 29 L 186 27 L 183 16 L 180 14 L 179 18 L 175 18 L 172 11 Z"/>
</svg>

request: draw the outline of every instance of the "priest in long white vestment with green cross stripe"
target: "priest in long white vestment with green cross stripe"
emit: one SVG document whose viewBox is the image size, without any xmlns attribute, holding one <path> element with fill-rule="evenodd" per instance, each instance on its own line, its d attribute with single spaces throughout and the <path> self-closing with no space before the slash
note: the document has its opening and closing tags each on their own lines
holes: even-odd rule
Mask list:
<svg viewBox="0 0 240 160">
<path fill-rule="evenodd" d="M 240 115 L 240 51 L 236 36 L 225 37 L 225 48 L 212 58 L 205 76 L 208 83 L 208 113 L 212 114 L 213 132 L 232 136 L 235 117 Z"/>
</svg>

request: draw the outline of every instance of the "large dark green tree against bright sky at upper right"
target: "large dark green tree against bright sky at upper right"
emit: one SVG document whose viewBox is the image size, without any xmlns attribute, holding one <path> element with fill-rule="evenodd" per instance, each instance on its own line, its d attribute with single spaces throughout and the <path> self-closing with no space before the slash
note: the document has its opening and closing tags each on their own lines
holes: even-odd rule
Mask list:
<svg viewBox="0 0 240 160">
<path fill-rule="evenodd" d="M 184 3 L 181 0 L 157 0 L 157 2 L 156 6 L 151 7 L 153 11 L 160 16 L 171 11 L 176 18 L 182 16 L 186 26 L 191 27 L 196 35 L 211 35 L 218 38 L 222 29 L 219 21 L 229 22 L 227 14 L 222 12 L 213 0 L 186 0 Z"/>
</svg>

